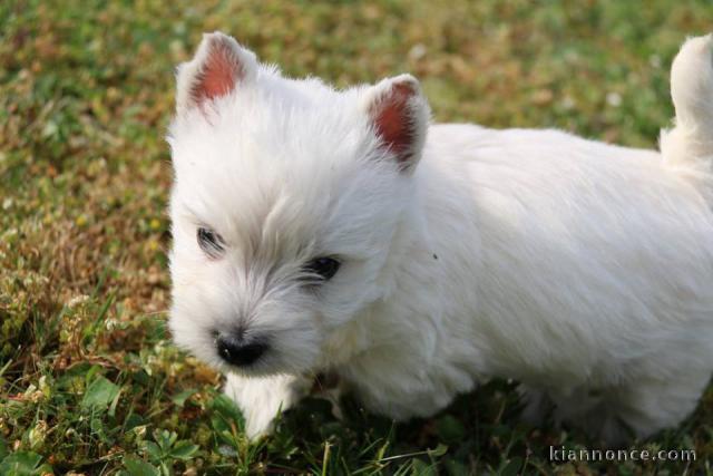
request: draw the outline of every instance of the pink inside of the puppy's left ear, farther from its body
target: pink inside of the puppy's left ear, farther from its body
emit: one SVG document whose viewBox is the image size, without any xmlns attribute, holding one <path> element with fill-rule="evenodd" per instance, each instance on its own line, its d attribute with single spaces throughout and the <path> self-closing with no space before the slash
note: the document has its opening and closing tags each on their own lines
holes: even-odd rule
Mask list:
<svg viewBox="0 0 713 476">
<path fill-rule="evenodd" d="M 229 47 L 214 42 L 192 95 L 198 104 L 225 96 L 235 88 L 238 75 L 240 64 Z"/>
</svg>

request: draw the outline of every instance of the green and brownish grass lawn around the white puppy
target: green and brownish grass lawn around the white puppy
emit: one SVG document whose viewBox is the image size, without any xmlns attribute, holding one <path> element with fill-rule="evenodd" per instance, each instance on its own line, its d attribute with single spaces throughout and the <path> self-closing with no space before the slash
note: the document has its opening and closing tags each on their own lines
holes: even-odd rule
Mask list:
<svg viewBox="0 0 713 476">
<path fill-rule="evenodd" d="M 197 4 L 196 4 L 197 3 Z M 294 76 L 411 71 L 436 119 L 559 127 L 653 147 L 667 69 L 710 1 L 0 3 L 0 474 L 713 474 L 713 391 L 639 449 L 694 463 L 565 463 L 576 431 L 518 422 L 488 383 L 404 425 L 311 399 L 250 444 L 219 376 L 170 343 L 164 134 L 173 71 L 235 35 Z"/>
</svg>

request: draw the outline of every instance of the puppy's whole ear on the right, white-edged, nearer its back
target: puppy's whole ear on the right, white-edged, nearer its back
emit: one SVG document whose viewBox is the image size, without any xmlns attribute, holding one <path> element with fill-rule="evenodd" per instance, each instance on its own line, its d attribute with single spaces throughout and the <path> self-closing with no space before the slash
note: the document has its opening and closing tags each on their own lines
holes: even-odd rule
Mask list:
<svg viewBox="0 0 713 476">
<path fill-rule="evenodd" d="M 384 79 L 363 100 L 380 147 L 402 171 L 412 171 L 421 158 L 430 118 L 419 81 L 411 75 Z"/>
</svg>

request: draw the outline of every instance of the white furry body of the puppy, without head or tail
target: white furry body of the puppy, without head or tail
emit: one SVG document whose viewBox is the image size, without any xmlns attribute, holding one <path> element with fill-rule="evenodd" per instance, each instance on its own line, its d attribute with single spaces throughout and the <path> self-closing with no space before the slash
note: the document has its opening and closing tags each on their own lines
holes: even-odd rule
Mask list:
<svg viewBox="0 0 713 476">
<path fill-rule="evenodd" d="M 374 408 L 429 415 L 494 376 L 565 411 L 596 389 L 631 424 L 646 399 L 657 426 L 693 408 L 713 362 L 713 216 L 658 154 L 433 126 L 416 179 L 400 273 L 328 353 Z M 380 350 L 351 350 L 360 334 Z"/>
</svg>

